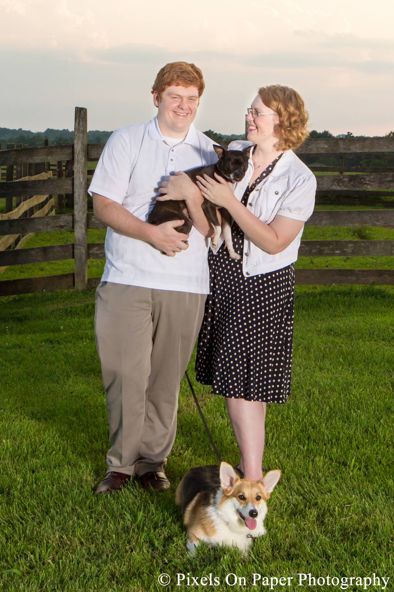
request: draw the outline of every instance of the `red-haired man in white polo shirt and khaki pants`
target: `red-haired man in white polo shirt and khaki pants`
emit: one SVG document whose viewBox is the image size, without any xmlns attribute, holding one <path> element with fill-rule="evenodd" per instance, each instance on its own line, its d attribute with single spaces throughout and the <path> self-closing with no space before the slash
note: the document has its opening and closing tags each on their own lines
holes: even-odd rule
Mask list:
<svg viewBox="0 0 394 592">
<path fill-rule="evenodd" d="M 203 198 L 175 173 L 217 161 L 213 141 L 193 126 L 203 90 L 194 64 L 164 66 L 152 87 L 157 117 L 112 134 L 89 188 L 96 217 L 108 224 L 95 331 L 112 447 L 97 493 L 120 490 L 133 474 L 145 489 L 170 487 L 164 469 L 179 385 L 209 293 Z M 181 220 L 146 222 L 160 184 L 168 197 L 185 199 L 190 235 L 174 230 Z"/>
</svg>

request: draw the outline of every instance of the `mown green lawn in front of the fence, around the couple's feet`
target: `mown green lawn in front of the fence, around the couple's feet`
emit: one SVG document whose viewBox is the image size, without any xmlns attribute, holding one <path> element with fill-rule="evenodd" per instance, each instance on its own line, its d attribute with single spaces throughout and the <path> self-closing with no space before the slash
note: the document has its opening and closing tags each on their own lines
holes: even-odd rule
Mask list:
<svg viewBox="0 0 394 592">
<path fill-rule="evenodd" d="M 185 382 L 171 489 L 148 495 L 132 482 L 114 496 L 93 494 L 108 448 L 93 315 L 93 291 L 2 298 L 0 590 L 163 590 L 162 572 L 172 578 L 167 590 L 185 589 L 178 572 L 211 572 L 217 590 L 258 590 L 254 572 L 294 577 L 291 590 L 310 590 L 298 587 L 298 572 L 393 577 L 392 288 L 297 288 L 292 396 L 268 407 L 263 459 L 282 478 L 267 535 L 247 560 L 233 549 L 201 546 L 193 558 L 185 549 L 175 487 L 191 466 L 216 460 Z M 234 464 L 223 398 L 196 390 Z M 229 587 L 230 572 L 249 585 Z"/>
</svg>

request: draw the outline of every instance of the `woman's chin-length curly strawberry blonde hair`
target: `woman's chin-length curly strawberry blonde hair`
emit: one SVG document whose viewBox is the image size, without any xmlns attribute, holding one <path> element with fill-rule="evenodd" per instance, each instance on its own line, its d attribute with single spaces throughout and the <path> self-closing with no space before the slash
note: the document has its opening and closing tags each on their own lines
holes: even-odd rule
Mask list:
<svg viewBox="0 0 394 592">
<path fill-rule="evenodd" d="M 298 148 L 308 137 L 307 122 L 309 113 L 298 92 L 288 86 L 273 84 L 262 86 L 258 94 L 263 103 L 279 117 L 276 135 L 279 137 L 279 150 Z"/>
</svg>

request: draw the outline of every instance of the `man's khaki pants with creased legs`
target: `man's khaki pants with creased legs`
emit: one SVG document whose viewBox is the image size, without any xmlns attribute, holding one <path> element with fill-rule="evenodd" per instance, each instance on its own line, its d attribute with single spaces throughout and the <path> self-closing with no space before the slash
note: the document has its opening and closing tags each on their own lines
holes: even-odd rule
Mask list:
<svg viewBox="0 0 394 592">
<path fill-rule="evenodd" d="M 102 282 L 95 334 L 106 391 L 109 471 L 164 471 L 177 430 L 180 381 L 206 294 Z"/>
</svg>

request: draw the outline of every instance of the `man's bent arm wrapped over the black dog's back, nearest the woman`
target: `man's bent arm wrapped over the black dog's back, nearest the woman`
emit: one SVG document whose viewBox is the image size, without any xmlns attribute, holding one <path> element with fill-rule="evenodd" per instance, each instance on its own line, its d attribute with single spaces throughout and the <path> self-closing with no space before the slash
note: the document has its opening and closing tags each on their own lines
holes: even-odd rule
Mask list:
<svg viewBox="0 0 394 592">
<path fill-rule="evenodd" d="M 213 237 L 214 230 L 201 209 L 204 198 L 186 173 L 180 171 L 170 175 L 168 181 L 162 182 L 160 189 L 166 195 L 159 195 L 158 201 L 184 200 L 193 226 L 203 236 Z"/>
</svg>

